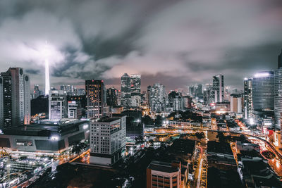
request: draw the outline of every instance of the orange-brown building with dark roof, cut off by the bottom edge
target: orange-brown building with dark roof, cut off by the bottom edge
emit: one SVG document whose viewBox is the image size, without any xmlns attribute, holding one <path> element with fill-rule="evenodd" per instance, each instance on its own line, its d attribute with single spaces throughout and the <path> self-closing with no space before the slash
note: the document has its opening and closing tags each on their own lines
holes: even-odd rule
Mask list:
<svg viewBox="0 0 282 188">
<path fill-rule="evenodd" d="M 160 161 L 152 161 L 147 167 L 147 188 L 180 188 L 180 185 L 180 163 L 164 163 Z"/>
</svg>

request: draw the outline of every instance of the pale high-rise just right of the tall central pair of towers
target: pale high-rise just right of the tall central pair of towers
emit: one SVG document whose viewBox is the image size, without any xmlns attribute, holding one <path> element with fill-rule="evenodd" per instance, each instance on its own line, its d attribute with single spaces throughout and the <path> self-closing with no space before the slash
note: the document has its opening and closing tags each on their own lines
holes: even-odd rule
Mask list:
<svg viewBox="0 0 282 188">
<path fill-rule="evenodd" d="M 149 104 L 152 111 L 165 111 L 166 89 L 163 84 L 154 84 L 149 87 Z"/>
</svg>

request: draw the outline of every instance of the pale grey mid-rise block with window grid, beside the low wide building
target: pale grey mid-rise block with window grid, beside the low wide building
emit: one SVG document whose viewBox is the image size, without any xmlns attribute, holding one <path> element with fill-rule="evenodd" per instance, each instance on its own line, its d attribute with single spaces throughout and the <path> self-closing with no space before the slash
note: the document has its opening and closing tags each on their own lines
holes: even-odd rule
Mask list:
<svg viewBox="0 0 282 188">
<path fill-rule="evenodd" d="M 125 149 L 126 118 L 90 120 L 90 163 L 111 166 Z"/>
</svg>

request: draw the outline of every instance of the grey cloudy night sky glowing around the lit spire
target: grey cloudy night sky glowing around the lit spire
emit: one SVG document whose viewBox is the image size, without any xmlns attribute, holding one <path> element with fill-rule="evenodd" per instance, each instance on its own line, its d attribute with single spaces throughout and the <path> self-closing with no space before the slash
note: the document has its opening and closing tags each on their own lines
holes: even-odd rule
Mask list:
<svg viewBox="0 0 282 188">
<path fill-rule="evenodd" d="M 242 88 L 281 49 L 281 0 L 0 1 L 0 71 L 22 67 L 42 90 L 45 56 L 51 86 L 139 73 L 142 89 L 176 89 L 221 73 Z"/>
</svg>

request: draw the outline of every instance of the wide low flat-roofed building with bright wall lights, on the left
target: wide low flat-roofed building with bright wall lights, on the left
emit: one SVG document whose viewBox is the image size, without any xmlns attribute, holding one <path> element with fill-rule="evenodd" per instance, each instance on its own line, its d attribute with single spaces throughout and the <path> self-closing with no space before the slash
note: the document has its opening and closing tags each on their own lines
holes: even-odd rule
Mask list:
<svg viewBox="0 0 282 188">
<path fill-rule="evenodd" d="M 0 134 L 0 146 L 13 151 L 61 153 L 88 138 L 87 120 L 42 121 L 5 129 Z"/>
</svg>

